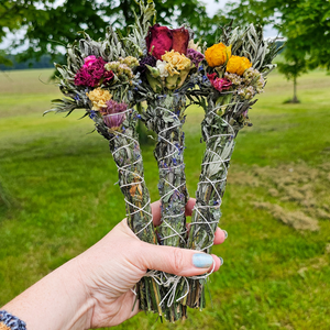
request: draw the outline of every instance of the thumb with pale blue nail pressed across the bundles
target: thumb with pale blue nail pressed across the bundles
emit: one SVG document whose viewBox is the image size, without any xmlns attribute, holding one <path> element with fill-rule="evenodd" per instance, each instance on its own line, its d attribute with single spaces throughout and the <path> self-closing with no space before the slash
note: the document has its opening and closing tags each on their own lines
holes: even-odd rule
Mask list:
<svg viewBox="0 0 330 330">
<path fill-rule="evenodd" d="M 144 271 L 155 270 L 179 276 L 196 276 L 209 270 L 218 271 L 221 261 L 218 256 L 195 250 L 160 246 L 142 243 L 139 265 Z"/>
</svg>

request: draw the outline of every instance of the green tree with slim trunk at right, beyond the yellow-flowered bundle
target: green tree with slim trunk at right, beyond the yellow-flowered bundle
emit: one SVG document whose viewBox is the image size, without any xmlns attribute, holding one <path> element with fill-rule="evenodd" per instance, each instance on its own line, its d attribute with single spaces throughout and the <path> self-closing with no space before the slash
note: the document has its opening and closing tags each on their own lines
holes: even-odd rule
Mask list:
<svg viewBox="0 0 330 330">
<path fill-rule="evenodd" d="M 299 75 L 318 66 L 330 69 L 329 0 L 241 0 L 229 3 L 227 12 L 235 23 L 274 24 L 287 38 L 279 72 L 294 80 L 293 101 Z"/>
</svg>

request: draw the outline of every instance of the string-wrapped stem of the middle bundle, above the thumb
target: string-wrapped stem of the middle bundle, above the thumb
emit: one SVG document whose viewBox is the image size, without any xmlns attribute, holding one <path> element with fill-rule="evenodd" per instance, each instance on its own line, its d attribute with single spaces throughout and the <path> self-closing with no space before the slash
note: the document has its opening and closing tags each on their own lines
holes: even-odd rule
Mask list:
<svg viewBox="0 0 330 330">
<path fill-rule="evenodd" d="M 185 205 L 188 199 L 184 163 L 186 97 L 184 95 L 158 96 L 148 102 L 144 121 L 156 132 L 158 142 L 154 151 L 158 164 L 158 191 L 162 201 L 162 224 L 158 239 L 162 245 L 185 246 Z"/>
</svg>

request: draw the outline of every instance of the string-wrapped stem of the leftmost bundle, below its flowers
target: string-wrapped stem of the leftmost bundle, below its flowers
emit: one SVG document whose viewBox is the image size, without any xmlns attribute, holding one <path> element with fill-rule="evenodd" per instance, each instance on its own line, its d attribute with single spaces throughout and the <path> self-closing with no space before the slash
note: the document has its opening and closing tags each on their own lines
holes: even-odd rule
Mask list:
<svg viewBox="0 0 330 330">
<path fill-rule="evenodd" d="M 100 117 L 92 119 L 97 131 L 109 140 L 110 151 L 118 167 L 120 189 L 125 199 L 129 227 L 140 240 L 157 244 L 151 199 L 144 182 L 143 161 L 135 130 L 138 117 L 135 110 L 129 109 L 120 129 L 108 129 Z M 138 284 L 138 294 L 142 310 L 162 316 L 160 287 L 153 278 L 143 277 Z"/>
</svg>

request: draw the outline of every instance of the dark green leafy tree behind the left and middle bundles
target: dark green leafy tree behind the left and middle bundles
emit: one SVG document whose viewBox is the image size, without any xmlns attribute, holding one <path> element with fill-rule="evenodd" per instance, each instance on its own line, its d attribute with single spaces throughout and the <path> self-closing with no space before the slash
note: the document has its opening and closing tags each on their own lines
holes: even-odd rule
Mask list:
<svg viewBox="0 0 330 330">
<path fill-rule="evenodd" d="M 111 24 L 125 34 L 125 26 L 134 21 L 134 11 L 139 13 L 134 0 L 66 0 L 58 7 L 54 3 L 55 0 L 4 0 L 0 4 L 0 42 L 8 31 L 21 29 L 25 31 L 24 35 L 14 40 L 10 47 L 14 51 L 28 43 L 28 50 L 20 54 L 19 59 L 38 59 L 50 54 L 54 61 L 59 52 L 58 45 L 72 43 L 77 38 L 77 32 L 86 31 L 92 38 L 99 38 Z M 209 32 L 215 31 L 215 22 L 198 0 L 156 1 L 155 6 L 158 23 L 186 23 L 197 31 L 197 37 L 208 36 L 210 42 L 213 41 Z"/>
</svg>

